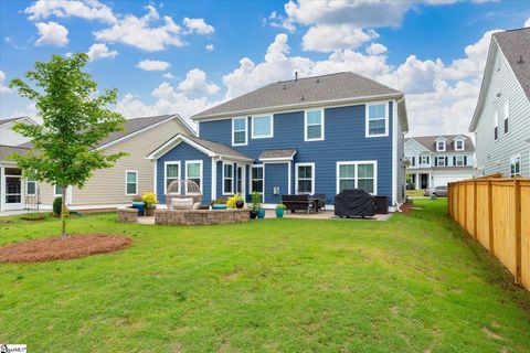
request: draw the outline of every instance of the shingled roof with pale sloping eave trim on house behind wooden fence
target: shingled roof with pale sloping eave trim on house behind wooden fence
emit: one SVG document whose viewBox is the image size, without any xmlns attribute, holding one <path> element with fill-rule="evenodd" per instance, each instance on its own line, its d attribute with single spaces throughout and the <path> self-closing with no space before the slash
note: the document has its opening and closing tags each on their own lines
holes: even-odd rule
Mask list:
<svg viewBox="0 0 530 353">
<path fill-rule="evenodd" d="M 486 88 L 487 85 L 489 85 L 491 72 L 494 71 L 495 63 L 492 61 L 498 50 L 500 50 L 508 61 L 516 79 L 530 100 L 530 28 L 494 33 L 491 35 L 491 42 L 489 43 L 488 57 L 484 68 L 477 107 L 475 108 L 471 124 L 469 125 L 470 132 L 477 128 L 478 118 L 483 111 L 484 101 L 486 100 Z"/>
</svg>

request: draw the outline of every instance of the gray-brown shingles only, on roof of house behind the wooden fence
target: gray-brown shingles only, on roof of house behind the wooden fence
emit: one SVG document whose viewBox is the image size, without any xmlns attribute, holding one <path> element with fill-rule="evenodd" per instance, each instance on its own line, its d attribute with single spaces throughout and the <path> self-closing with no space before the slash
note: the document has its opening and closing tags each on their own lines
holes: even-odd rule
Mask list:
<svg viewBox="0 0 530 353">
<path fill-rule="evenodd" d="M 530 99 L 530 28 L 494 33 L 494 38 Z"/>
</svg>

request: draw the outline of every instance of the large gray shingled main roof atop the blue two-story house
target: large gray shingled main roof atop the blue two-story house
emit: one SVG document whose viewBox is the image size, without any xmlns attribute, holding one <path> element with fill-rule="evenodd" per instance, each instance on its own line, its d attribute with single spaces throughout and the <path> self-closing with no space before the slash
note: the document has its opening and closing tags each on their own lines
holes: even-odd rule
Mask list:
<svg viewBox="0 0 530 353">
<path fill-rule="evenodd" d="M 268 84 L 201 111 L 192 116 L 192 119 L 223 118 L 378 97 L 401 99 L 403 93 L 352 72 L 342 72 Z M 401 104 L 404 105 L 404 101 Z M 403 110 L 404 126 L 407 127 L 406 110 Z"/>
</svg>

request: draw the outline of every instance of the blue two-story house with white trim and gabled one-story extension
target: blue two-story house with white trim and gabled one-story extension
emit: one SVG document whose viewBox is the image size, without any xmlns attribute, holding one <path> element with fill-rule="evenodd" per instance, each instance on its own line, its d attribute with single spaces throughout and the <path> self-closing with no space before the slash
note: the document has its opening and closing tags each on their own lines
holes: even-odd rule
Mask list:
<svg viewBox="0 0 530 353">
<path fill-rule="evenodd" d="M 342 189 L 404 196 L 404 96 L 353 73 L 269 84 L 192 117 L 199 138 L 177 135 L 149 154 L 157 161 L 163 202 L 172 180 L 197 181 L 209 204 L 234 193 L 263 194 L 265 207 L 282 194 Z"/>
</svg>

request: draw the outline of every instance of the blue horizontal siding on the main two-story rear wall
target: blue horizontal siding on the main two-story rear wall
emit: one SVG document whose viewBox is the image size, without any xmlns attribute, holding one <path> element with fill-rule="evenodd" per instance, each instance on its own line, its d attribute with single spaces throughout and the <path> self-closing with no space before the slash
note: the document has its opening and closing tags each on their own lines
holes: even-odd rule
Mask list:
<svg viewBox="0 0 530 353">
<path fill-rule="evenodd" d="M 338 161 L 378 161 L 379 195 L 388 195 L 392 200 L 392 103 L 389 103 L 389 136 L 365 138 L 364 105 L 336 107 L 325 109 L 325 140 L 304 141 L 304 111 L 274 115 L 274 137 L 252 139 L 252 119 L 248 117 L 247 146 L 235 146 L 236 150 L 253 158 L 256 162 L 264 150 L 296 148 L 297 154 L 293 161 L 292 192 L 295 192 L 295 163 L 315 163 L 315 193 L 324 193 L 332 203 L 336 194 L 336 170 Z M 200 122 L 201 138 L 232 145 L 231 119 Z M 285 170 L 266 167 L 265 183 L 268 179 L 280 180 Z M 284 164 L 286 169 L 286 164 Z M 219 169 L 218 169 L 219 170 Z M 278 173 L 278 175 L 276 175 Z M 219 173 L 218 173 L 219 174 Z M 285 176 L 287 178 L 287 176 Z M 250 179 L 250 178 L 248 178 Z M 247 180 L 247 184 L 248 184 Z M 282 185 L 280 185 L 282 186 Z M 248 186 L 247 189 L 248 190 Z M 220 193 L 220 189 L 218 188 Z M 268 190 L 266 191 L 268 192 Z M 282 193 L 287 193 L 283 189 Z M 276 199 L 267 197 L 269 203 Z"/>
</svg>

